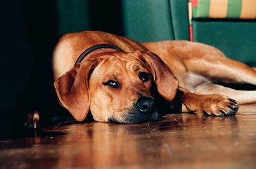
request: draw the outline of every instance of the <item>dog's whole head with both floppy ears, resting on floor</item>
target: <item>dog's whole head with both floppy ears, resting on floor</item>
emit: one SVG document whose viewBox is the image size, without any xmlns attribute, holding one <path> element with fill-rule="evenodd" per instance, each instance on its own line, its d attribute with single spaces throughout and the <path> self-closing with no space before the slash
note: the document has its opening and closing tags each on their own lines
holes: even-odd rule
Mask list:
<svg viewBox="0 0 256 169">
<path fill-rule="evenodd" d="M 178 82 L 151 52 L 108 52 L 88 56 L 54 83 L 61 104 L 77 121 L 89 110 L 95 121 L 132 123 L 159 119 L 152 85 L 166 100 Z"/>
</svg>

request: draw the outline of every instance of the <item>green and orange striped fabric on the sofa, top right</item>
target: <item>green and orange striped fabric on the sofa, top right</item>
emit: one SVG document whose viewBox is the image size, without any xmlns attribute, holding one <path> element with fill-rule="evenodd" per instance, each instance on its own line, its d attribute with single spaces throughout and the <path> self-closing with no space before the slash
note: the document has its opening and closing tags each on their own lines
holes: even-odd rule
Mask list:
<svg viewBox="0 0 256 169">
<path fill-rule="evenodd" d="M 191 0 L 193 18 L 256 18 L 256 0 Z"/>
</svg>

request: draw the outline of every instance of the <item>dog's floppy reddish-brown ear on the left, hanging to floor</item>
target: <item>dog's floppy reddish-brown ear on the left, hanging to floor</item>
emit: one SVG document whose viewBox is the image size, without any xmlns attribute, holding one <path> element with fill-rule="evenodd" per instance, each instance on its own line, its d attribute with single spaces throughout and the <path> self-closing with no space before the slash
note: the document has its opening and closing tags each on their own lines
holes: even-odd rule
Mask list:
<svg viewBox="0 0 256 169">
<path fill-rule="evenodd" d="M 76 121 L 83 121 L 90 110 L 88 78 L 98 63 L 98 61 L 88 60 L 77 64 L 54 82 L 61 104 L 67 108 Z"/>
</svg>

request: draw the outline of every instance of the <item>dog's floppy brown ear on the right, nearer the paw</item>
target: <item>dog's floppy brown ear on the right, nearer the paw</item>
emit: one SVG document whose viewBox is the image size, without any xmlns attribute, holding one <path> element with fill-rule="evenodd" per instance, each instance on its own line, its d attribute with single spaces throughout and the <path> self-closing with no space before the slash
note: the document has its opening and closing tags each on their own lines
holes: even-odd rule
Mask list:
<svg viewBox="0 0 256 169">
<path fill-rule="evenodd" d="M 175 98 L 179 82 L 172 71 L 152 52 L 134 52 L 149 68 L 157 85 L 157 91 L 164 99 L 172 101 Z"/>
</svg>

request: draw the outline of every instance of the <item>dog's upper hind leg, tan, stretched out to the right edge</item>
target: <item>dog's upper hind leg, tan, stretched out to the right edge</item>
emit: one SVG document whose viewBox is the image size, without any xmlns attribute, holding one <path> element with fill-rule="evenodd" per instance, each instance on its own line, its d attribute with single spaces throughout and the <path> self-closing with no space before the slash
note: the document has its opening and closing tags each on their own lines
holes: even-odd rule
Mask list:
<svg viewBox="0 0 256 169">
<path fill-rule="evenodd" d="M 188 59 L 186 68 L 211 82 L 256 85 L 256 71 L 243 62 L 227 57 Z"/>
</svg>

